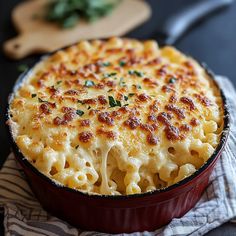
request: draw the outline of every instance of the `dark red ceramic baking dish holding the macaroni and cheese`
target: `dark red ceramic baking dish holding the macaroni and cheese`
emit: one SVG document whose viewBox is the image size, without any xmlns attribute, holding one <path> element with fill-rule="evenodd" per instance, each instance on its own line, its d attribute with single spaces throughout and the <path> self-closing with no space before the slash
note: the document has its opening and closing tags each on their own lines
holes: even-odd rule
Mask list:
<svg viewBox="0 0 236 236">
<path fill-rule="evenodd" d="M 206 67 L 205 67 L 206 68 Z M 214 80 L 214 74 L 206 69 Z M 30 72 L 30 71 L 29 71 Z M 16 82 L 14 91 L 29 72 Z M 19 151 L 9 130 L 13 152 L 21 164 L 27 180 L 42 206 L 51 214 L 85 230 L 107 233 L 130 233 L 153 231 L 173 218 L 187 213 L 200 199 L 206 189 L 209 176 L 220 157 L 229 133 L 229 111 L 221 91 L 224 106 L 224 129 L 213 155 L 193 175 L 164 189 L 134 195 L 89 195 L 59 186 L 39 172 Z M 9 113 L 7 113 L 7 119 Z"/>
</svg>

